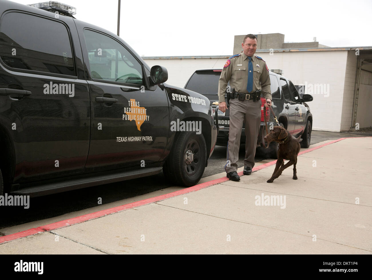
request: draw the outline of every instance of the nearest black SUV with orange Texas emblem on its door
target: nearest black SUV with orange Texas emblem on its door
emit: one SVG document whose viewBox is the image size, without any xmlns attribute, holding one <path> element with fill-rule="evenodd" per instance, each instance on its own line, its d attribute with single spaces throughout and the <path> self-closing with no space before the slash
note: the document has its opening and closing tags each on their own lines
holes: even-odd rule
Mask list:
<svg viewBox="0 0 372 280">
<path fill-rule="evenodd" d="M 0 0 L 0 194 L 161 171 L 195 185 L 217 139 L 208 98 L 165 84 L 164 67 L 70 7 L 38 8 Z"/>
</svg>

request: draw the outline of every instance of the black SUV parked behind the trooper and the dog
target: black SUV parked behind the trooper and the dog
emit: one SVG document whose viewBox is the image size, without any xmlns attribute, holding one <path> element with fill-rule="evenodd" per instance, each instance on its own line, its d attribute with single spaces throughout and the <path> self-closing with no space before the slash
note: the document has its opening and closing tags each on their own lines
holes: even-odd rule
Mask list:
<svg viewBox="0 0 372 280">
<path fill-rule="evenodd" d="M 212 107 L 218 110 L 218 80 L 221 76 L 221 71 L 221 68 L 196 70 L 187 81 L 185 89 L 201 93 L 212 102 Z M 305 101 L 312 101 L 312 96 L 305 94 L 301 98 L 296 87 L 290 80 L 271 71 L 269 74 L 271 82 L 270 89 L 273 98 L 272 108 L 279 124 L 285 127 L 293 136 L 298 137 L 301 135 L 301 146 L 308 148 L 311 139 L 312 114 Z M 226 96 L 225 99 L 227 100 Z M 266 135 L 263 116 L 263 104 L 266 102 L 264 97 L 261 97 L 261 102 L 261 127 L 257 139 L 257 147 L 263 146 L 263 137 Z M 229 107 L 228 104 L 227 107 Z M 230 127 L 229 112 L 229 110 L 226 110 L 225 113 L 218 110 L 218 125 L 220 129 L 217 137 L 217 145 L 227 146 Z M 267 111 L 266 114 L 270 114 L 270 111 Z M 272 114 L 270 117 L 267 116 L 266 120 L 268 119 L 268 128 L 277 125 Z M 240 141 L 241 143 L 245 143 L 246 141 L 244 124 Z M 277 143 L 270 143 L 269 151 L 270 157 L 278 158 Z"/>
</svg>

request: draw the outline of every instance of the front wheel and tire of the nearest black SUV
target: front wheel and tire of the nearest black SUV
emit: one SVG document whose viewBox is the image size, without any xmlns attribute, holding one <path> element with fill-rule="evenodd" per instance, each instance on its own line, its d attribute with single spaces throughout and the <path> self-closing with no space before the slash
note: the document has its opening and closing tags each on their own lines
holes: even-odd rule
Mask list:
<svg viewBox="0 0 372 280">
<path fill-rule="evenodd" d="M 174 184 L 191 187 L 199 182 L 206 163 L 206 144 L 202 134 L 184 131 L 176 136 L 163 174 Z"/>
</svg>

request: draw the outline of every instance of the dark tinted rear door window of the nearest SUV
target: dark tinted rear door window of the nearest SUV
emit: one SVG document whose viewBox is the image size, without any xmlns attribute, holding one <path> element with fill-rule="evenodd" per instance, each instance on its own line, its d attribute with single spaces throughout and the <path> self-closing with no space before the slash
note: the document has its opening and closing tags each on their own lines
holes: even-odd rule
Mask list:
<svg viewBox="0 0 372 280">
<path fill-rule="evenodd" d="M 0 57 L 12 68 L 75 76 L 67 28 L 55 20 L 7 13 L 1 21 Z"/>
</svg>

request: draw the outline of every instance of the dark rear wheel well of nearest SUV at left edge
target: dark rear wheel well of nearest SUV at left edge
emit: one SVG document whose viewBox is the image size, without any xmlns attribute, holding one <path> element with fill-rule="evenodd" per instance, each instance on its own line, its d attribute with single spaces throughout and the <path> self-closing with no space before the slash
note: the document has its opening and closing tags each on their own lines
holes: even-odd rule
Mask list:
<svg viewBox="0 0 372 280">
<path fill-rule="evenodd" d="M 14 174 L 14 147 L 10 141 L 8 131 L 0 126 L 0 145 L 3 150 L 0 160 L 0 169 L 3 174 L 4 191 L 8 191 L 10 184 L 13 182 Z"/>
</svg>

